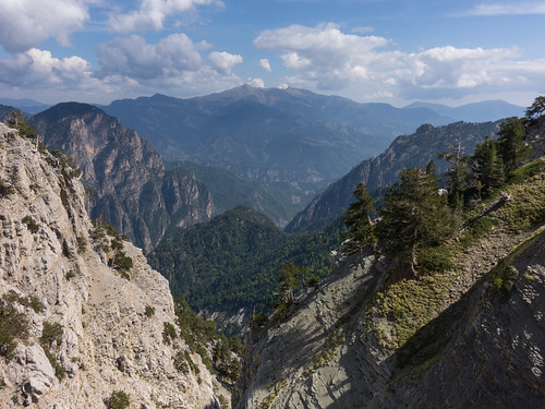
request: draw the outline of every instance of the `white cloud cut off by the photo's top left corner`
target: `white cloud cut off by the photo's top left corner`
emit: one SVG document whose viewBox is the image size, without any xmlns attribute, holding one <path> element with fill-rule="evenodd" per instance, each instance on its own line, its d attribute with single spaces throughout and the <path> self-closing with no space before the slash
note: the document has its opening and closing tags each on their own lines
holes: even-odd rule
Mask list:
<svg viewBox="0 0 545 409">
<path fill-rule="evenodd" d="M 9 52 L 23 52 L 48 38 L 69 45 L 69 37 L 89 19 L 93 0 L 2 0 L 0 44 Z"/>
</svg>

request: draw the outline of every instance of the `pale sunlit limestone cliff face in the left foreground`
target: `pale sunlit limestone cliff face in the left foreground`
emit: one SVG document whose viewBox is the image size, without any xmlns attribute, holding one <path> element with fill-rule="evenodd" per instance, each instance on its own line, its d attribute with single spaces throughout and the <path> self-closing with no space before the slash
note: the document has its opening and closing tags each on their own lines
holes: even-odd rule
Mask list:
<svg viewBox="0 0 545 409">
<path fill-rule="evenodd" d="M 105 408 L 125 393 L 130 408 L 216 407 L 199 357 L 164 340 L 167 280 L 129 242 L 126 278 L 112 269 L 83 185 L 33 147 L 0 124 L 0 406 Z M 175 364 L 184 353 L 198 375 Z"/>
</svg>

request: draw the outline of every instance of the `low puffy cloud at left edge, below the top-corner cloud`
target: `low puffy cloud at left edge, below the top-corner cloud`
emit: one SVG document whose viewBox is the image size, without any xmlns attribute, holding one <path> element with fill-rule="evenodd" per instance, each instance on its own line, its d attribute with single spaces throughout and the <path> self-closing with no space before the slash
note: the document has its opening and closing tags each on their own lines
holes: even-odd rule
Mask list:
<svg viewBox="0 0 545 409">
<path fill-rule="evenodd" d="M 36 48 L 0 60 L 0 82 L 17 86 L 69 88 L 95 85 L 86 60 L 75 56 L 61 60 Z"/>
</svg>

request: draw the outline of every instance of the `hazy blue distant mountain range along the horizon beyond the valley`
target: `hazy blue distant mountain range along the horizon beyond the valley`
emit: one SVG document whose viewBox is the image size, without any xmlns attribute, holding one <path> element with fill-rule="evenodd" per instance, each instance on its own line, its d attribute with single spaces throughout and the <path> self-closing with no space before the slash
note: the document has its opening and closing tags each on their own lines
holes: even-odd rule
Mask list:
<svg viewBox="0 0 545 409">
<path fill-rule="evenodd" d="M 33 99 L 1 100 L 27 115 L 47 108 Z M 78 106 L 70 104 L 59 106 L 64 109 Z M 88 109 L 89 106 L 86 107 Z M 13 109 L 3 108 L 0 111 L 3 117 Z M 387 104 L 359 104 L 304 89 L 264 89 L 247 85 L 187 99 L 164 95 L 123 99 L 101 108 L 149 141 L 160 153 L 158 160 L 161 164 L 162 160 L 185 161 L 185 166 L 191 167 L 197 179 L 209 188 L 216 213 L 242 204 L 263 212 L 280 227 L 284 227 L 316 194 L 324 192 L 363 159 L 379 155 L 399 134 L 410 134 L 423 123 L 439 127 L 459 120 L 481 122 L 523 112 L 523 108 L 504 101 L 457 108 L 414 103 L 395 108 Z M 35 118 L 46 118 L 51 109 Z M 73 117 L 76 111 L 70 116 Z M 47 141 L 52 137 L 49 128 Z M 63 129 L 66 132 L 63 137 L 68 137 L 69 129 L 57 128 Z M 84 155 L 76 152 L 77 146 L 73 142 L 60 143 L 59 134 L 55 137 L 59 146 L 70 145 L 68 152 L 75 156 L 76 161 Z M 81 166 L 85 167 L 85 161 Z M 94 185 L 94 189 L 98 187 Z M 119 209 L 120 206 L 110 204 L 102 208 L 102 213 L 109 214 L 111 208 Z M 96 207 L 95 215 L 99 207 Z M 131 222 L 121 221 L 119 216 L 118 219 L 130 238 L 142 236 L 132 231 L 133 228 L 129 227 Z M 290 229 L 298 229 L 299 224 L 293 220 Z M 145 244 L 137 243 L 149 250 L 162 234 L 146 239 Z"/>
</svg>

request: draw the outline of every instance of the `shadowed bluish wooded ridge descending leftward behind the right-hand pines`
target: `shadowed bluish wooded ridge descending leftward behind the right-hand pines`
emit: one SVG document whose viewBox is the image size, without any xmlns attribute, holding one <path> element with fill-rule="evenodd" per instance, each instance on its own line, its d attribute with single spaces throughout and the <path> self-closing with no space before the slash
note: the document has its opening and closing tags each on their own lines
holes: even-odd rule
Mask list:
<svg viewBox="0 0 545 409">
<path fill-rule="evenodd" d="M 473 153 L 475 145 L 485 136 L 494 136 L 500 121 L 485 123 L 456 122 L 446 127 L 435 128 L 431 124 L 421 125 L 411 135 L 398 136 L 391 145 L 377 157 L 363 160 L 349 173 L 331 183 L 299 213 L 287 226 L 286 231 L 305 231 L 322 228 L 330 220 L 344 213 L 353 202 L 353 191 L 358 183 L 367 185 L 373 192 L 386 188 L 398 179 L 402 169 L 410 167 L 425 168 L 434 160 L 437 175 L 448 168 L 448 164 L 437 159 L 438 152 L 445 152 L 449 145 L 455 145 L 461 137 L 463 154 Z"/>
</svg>

